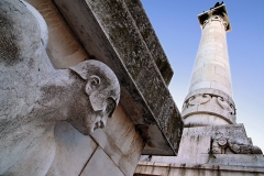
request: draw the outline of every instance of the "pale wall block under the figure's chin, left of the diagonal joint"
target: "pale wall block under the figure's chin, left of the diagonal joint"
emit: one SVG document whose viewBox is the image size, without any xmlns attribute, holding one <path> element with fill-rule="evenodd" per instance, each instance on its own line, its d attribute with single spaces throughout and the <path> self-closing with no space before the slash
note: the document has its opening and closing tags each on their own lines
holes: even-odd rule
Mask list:
<svg viewBox="0 0 264 176">
<path fill-rule="evenodd" d="M 69 123 L 55 127 L 56 154 L 48 176 L 79 175 L 98 144 L 89 135 L 82 135 Z"/>
</svg>

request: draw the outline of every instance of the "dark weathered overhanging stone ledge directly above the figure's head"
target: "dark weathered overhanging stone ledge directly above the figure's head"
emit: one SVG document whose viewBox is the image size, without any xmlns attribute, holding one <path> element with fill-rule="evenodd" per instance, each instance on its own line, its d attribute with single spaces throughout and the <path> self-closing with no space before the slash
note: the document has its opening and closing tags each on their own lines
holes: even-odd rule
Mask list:
<svg viewBox="0 0 264 176">
<path fill-rule="evenodd" d="M 107 63 L 118 76 L 121 105 L 147 143 L 143 153 L 176 154 L 183 121 L 133 11 L 124 1 L 54 2 L 89 55 Z"/>
</svg>

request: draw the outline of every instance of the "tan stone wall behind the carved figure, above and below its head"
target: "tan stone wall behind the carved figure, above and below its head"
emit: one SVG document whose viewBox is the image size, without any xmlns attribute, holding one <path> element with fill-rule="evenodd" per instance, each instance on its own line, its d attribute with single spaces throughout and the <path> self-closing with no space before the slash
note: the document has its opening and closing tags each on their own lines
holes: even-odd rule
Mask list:
<svg viewBox="0 0 264 176">
<path fill-rule="evenodd" d="M 89 59 L 62 13 L 50 0 L 28 0 L 48 26 L 47 55 L 55 68 Z M 119 106 L 107 127 L 82 135 L 67 122 L 55 127 L 56 154 L 47 175 L 133 175 L 145 142 Z"/>
</svg>

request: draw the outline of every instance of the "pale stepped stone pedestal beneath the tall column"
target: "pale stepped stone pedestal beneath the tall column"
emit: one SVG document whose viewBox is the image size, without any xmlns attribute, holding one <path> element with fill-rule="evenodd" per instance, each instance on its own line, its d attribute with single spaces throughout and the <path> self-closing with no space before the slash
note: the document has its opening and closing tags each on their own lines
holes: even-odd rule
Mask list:
<svg viewBox="0 0 264 176">
<path fill-rule="evenodd" d="M 255 147 L 243 124 L 185 128 L 178 156 L 141 157 L 135 176 L 264 175 Z"/>
</svg>

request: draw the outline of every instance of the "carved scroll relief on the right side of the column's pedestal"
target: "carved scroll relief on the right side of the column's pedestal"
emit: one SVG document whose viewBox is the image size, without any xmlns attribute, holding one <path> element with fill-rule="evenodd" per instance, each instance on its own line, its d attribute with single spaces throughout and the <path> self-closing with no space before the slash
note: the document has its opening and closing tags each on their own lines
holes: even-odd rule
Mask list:
<svg viewBox="0 0 264 176">
<path fill-rule="evenodd" d="M 258 146 L 254 146 L 252 143 L 241 143 L 231 136 L 224 136 L 222 133 L 212 138 L 212 154 L 227 154 L 228 151 L 233 154 L 263 154 Z"/>
</svg>

